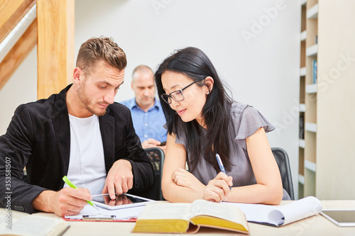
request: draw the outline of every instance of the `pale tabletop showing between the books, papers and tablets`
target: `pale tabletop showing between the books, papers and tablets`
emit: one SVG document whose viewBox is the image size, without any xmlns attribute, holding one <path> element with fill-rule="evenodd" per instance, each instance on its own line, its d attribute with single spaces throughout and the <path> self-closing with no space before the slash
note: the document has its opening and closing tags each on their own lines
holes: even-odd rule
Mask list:
<svg viewBox="0 0 355 236">
<path fill-rule="evenodd" d="M 321 201 L 324 209 L 355 209 L 355 201 Z M 283 204 L 287 204 L 285 201 Z M 0 208 L 0 215 L 4 215 L 6 210 Z M 28 214 L 21 213 L 17 211 L 12 211 L 13 218 L 21 218 Z M 58 216 L 53 213 L 37 213 L 37 215 L 54 217 Z M 131 233 L 135 223 L 131 222 L 82 222 L 82 221 L 68 221 L 70 228 L 65 232 L 65 236 L 70 235 L 155 235 L 155 234 L 143 234 L 143 233 Z M 337 227 L 322 215 L 315 215 L 304 220 L 291 223 L 290 225 L 285 225 L 282 227 L 272 227 L 267 225 L 259 225 L 255 223 L 249 223 L 250 235 L 355 235 L 355 227 Z M 163 235 L 173 235 L 173 234 L 159 234 Z M 176 234 L 174 234 L 176 235 Z M 197 235 L 244 235 L 237 234 L 235 232 L 222 231 L 222 230 L 212 230 L 205 228 L 197 232 Z"/>
</svg>

